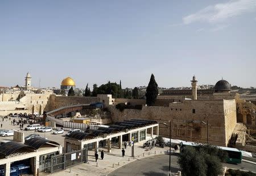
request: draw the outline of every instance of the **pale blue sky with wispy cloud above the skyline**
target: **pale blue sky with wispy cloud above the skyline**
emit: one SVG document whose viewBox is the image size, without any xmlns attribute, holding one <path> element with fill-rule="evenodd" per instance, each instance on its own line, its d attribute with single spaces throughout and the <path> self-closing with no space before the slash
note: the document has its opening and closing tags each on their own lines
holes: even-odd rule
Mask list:
<svg viewBox="0 0 256 176">
<path fill-rule="evenodd" d="M 0 1 L 0 86 L 256 87 L 256 0 Z"/>
</svg>

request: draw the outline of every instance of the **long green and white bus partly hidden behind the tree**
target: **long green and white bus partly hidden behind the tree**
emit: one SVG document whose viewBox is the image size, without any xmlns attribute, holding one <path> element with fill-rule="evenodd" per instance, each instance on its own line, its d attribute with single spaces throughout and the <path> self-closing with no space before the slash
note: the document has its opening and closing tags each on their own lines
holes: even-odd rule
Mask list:
<svg viewBox="0 0 256 176">
<path fill-rule="evenodd" d="M 203 145 L 203 144 L 183 141 L 180 143 L 180 151 L 182 152 L 182 149 L 184 148 L 184 146 L 196 147 L 199 145 Z M 217 148 L 220 148 L 221 150 L 224 150 L 228 153 L 228 158 L 226 159 L 226 162 L 231 163 L 231 164 L 240 164 L 242 162 L 241 150 L 238 150 L 236 148 L 225 147 L 225 146 L 217 146 Z"/>
</svg>

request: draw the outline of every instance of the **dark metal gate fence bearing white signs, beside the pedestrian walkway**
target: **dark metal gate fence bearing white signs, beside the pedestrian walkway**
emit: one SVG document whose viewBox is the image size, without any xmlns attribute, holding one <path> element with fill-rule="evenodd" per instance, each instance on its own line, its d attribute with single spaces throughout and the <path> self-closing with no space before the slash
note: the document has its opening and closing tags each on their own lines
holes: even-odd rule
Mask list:
<svg viewBox="0 0 256 176">
<path fill-rule="evenodd" d="M 44 160 L 39 163 L 39 171 L 53 173 L 81 164 L 82 162 L 88 162 L 88 149 L 59 154 L 57 156 L 53 156 L 51 159 Z"/>
</svg>

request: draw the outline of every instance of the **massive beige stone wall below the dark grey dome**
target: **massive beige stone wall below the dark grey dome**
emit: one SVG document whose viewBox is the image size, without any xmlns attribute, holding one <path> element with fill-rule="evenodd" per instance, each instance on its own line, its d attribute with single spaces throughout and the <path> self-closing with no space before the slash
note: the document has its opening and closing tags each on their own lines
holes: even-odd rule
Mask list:
<svg viewBox="0 0 256 176">
<path fill-rule="evenodd" d="M 122 112 L 109 106 L 113 121 L 129 119 L 151 119 L 159 123 L 172 121 L 172 137 L 174 139 L 207 142 L 207 125 L 192 123 L 192 120 L 208 120 L 209 143 L 226 146 L 236 125 L 235 100 L 184 100 L 170 103 L 168 107 L 143 106 L 142 110 L 125 109 Z M 195 113 L 193 113 L 195 112 Z M 226 112 L 226 114 L 225 114 Z M 231 123 L 231 124 L 229 124 Z M 234 123 L 234 124 L 233 124 Z M 226 125 L 226 126 L 225 126 Z M 225 128 L 228 128 L 225 130 Z M 170 128 L 159 125 L 159 134 L 169 136 Z"/>
</svg>

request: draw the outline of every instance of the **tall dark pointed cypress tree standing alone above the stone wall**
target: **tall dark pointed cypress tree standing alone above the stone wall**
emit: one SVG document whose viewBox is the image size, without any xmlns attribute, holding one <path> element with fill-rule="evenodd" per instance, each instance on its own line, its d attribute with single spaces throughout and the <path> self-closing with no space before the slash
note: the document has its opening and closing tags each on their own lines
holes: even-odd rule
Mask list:
<svg viewBox="0 0 256 176">
<path fill-rule="evenodd" d="M 146 103 L 147 106 L 154 106 L 156 98 L 158 97 L 158 84 L 155 81 L 154 74 L 151 74 L 150 82 L 146 90 Z"/>
</svg>

